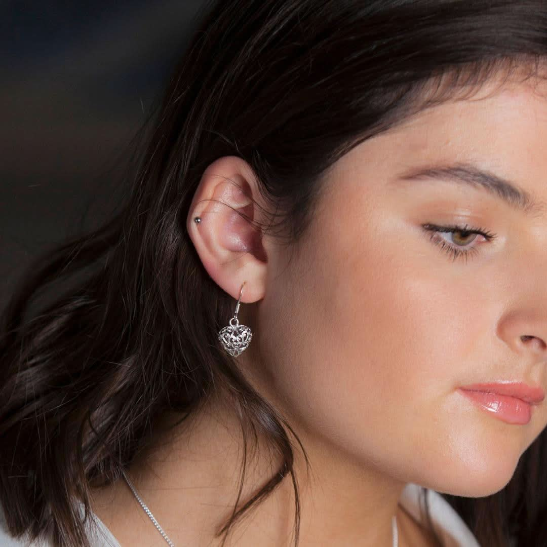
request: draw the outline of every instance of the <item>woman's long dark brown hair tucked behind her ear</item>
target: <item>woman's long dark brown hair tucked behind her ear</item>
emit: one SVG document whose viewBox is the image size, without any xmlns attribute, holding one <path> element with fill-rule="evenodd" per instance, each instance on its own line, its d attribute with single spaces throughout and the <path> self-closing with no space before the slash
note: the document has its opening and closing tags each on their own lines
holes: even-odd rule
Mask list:
<svg viewBox="0 0 547 547">
<path fill-rule="evenodd" d="M 278 219 L 267 229 L 296 245 L 322 174 L 342 155 L 432 104 L 470 96 L 502 69 L 536 75 L 546 55 L 540 0 L 208 3 L 143 127 L 124 203 L 100 228 L 45 253 L 3 311 L 0 501 L 9 532 L 88 546 L 73 499 L 90 511 L 89 485 L 120 478 L 153 441 L 156 418 L 169 410 L 183 420 L 222 392 L 241 417 L 245 449 L 258 432 L 283 463 L 218 533 L 289 474 L 298 544 L 292 464 L 304 447 L 219 347 L 235 301 L 185 229 L 201 174 L 221 156 L 245 159 Z M 39 304 L 60 282 L 61 294 Z M 547 544 L 545 451 L 542 433 L 492 496 L 445 495 L 482 545 Z"/>
</svg>

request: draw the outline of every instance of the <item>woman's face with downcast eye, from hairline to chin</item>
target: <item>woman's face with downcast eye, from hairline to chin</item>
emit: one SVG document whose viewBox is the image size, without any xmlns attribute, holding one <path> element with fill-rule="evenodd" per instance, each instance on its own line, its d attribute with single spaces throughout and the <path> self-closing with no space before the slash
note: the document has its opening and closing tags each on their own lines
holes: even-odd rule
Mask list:
<svg viewBox="0 0 547 547">
<path fill-rule="evenodd" d="M 465 165 L 547 203 L 542 86 L 484 88 L 365 141 L 327 174 L 299 253 L 268 249 L 246 358 L 310 437 L 401 481 L 475 497 L 503 488 L 544 429 L 547 400 L 509 424 L 457 388 L 547 387 L 547 206 L 518 210 L 450 176 L 401 178 Z"/>
</svg>

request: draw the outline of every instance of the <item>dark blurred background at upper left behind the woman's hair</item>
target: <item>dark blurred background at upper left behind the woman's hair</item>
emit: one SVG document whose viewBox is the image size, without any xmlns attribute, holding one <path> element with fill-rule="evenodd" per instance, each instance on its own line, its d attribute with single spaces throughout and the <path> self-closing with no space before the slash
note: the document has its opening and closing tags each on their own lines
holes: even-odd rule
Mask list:
<svg viewBox="0 0 547 547">
<path fill-rule="evenodd" d="M 34 256 L 107 215 L 204 4 L 0 0 L 0 307 Z"/>
</svg>

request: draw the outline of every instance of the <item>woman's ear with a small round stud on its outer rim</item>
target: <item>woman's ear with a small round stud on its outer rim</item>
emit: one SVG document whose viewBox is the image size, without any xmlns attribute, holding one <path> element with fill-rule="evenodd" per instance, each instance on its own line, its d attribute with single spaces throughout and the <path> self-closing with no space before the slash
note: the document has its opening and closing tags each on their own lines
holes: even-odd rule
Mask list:
<svg viewBox="0 0 547 547">
<path fill-rule="evenodd" d="M 235 300 L 245 282 L 245 303 L 265 293 L 266 252 L 261 230 L 252 222 L 263 222 L 263 210 L 251 166 L 238 156 L 224 156 L 203 172 L 187 218 L 188 233 L 208 274 Z"/>
</svg>

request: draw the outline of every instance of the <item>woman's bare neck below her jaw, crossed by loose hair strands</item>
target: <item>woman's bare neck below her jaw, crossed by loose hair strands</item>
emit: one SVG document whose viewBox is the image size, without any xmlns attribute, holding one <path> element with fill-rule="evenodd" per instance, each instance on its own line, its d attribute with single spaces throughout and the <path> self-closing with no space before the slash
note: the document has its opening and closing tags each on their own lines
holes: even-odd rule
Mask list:
<svg viewBox="0 0 547 547">
<path fill-rule="evenodd" d="M 162 424 L 178 417 L 166 415 Z M 240 485 L 242 439 L 238 429 L 237 420 L 229 416 L 224 406 L 208 404 L 175 429 L 166 430 L 154 449 L 143 453 L 129 469 L 137 492 L 174 544 L 191 544 L 198 537 L 200 541 L 206 537 L 211 545 L 218 541 L 215 532 L 231 514 Z M 404 484 L 336 452 L 320 437 L 303 430 L 297 433 L 311 461 L 307 474 L 301 452 L 295 451 L 300 547 L 324 543 L 325 538 L 331 544 L 392 545 L 393 515 L 398 518 L 399 546 L 403 547 L 408 521 L 401 519 L 398 499 Z M 259 442 L 259 456 L 247 462 L 238 507 L 265 484 L 281 463 L 270 459 L 266 447 Z M 167 490 L 169 496 L 165 495 Z M 133 496 L 129 487 L 124 495 Z M 134 504 L 131 510 L 136 510 Z M 237 545 L 264 545 L 264 538 L 271 538 L 272 545 L 290 544 L 294 511 L 294 488 L 289 475 L 249 511 L 245 526 L 235 526 Z M 182 521 L 181 514 L 186 515 Z M 179 540 L 177 531 L 182 534 Z"/>
</svg>

